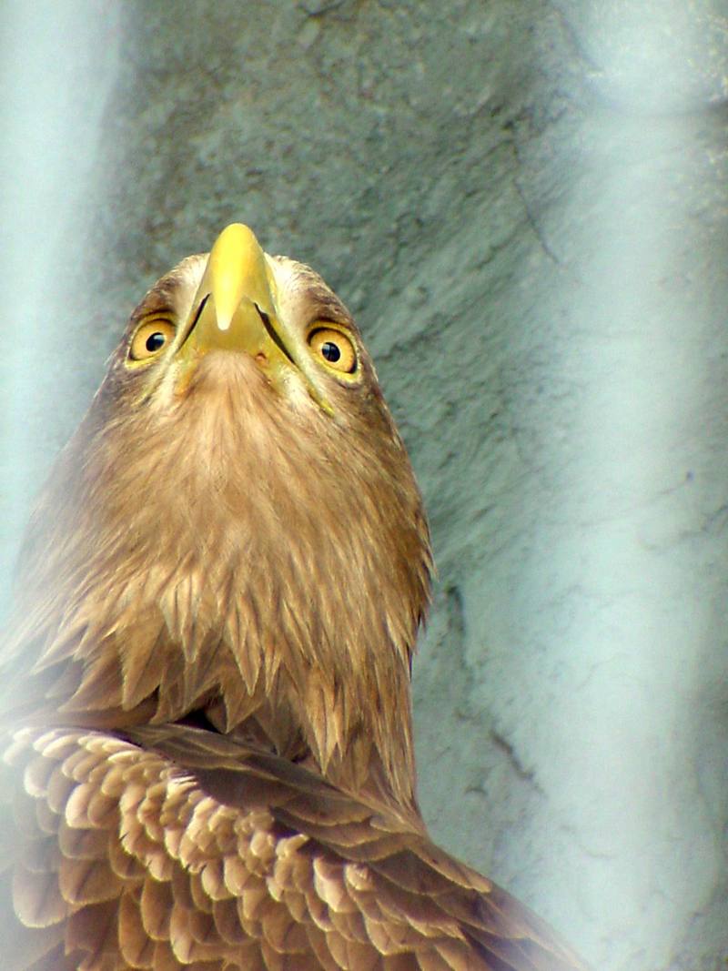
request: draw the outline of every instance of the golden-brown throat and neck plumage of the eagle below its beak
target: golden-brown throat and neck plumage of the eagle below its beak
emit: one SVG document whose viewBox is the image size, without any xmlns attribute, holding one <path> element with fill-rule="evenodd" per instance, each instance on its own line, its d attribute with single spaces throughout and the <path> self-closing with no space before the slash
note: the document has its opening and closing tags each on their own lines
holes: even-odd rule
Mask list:
<svg viewBox="0 0 728 971">
<path fill-rule="evenodd" d="M 14 650 L 63 719 L 202 712 L 414 805 L 430 553 L 403 446 L 386 415 L 311 429 L 240 377 L 163 416 L 92 410 L 31 526 Z"/>
</svg>

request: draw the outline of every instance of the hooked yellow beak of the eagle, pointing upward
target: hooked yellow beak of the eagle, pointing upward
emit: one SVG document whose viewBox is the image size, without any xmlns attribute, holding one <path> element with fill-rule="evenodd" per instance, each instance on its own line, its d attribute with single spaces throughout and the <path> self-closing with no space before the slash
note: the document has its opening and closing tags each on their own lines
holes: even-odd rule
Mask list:
<svg viewBox="0 0 728 971">
<path fill-rule="evenodd" d="M 202 281 L 182 326 L 177 356 L 184 364 L 210 351 L 248 353 L 272 385 L 296 374 L 324 411 L 328 402 L 312 381 L 313 362 L 301 335 L 277 312 L 275 281 L 248 226 L 233 222 L 210 251 Z"/>
</svg>

